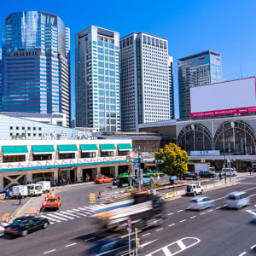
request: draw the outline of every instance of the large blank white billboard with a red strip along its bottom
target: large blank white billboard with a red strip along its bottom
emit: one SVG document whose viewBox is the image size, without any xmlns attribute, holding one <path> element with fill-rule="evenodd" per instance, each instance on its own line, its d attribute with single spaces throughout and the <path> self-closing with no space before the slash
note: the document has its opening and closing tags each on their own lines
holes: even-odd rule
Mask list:
<svg viewBox="0 0 256 256">
<path fill-rule="evenodd" d="M 191 118 L 256 112 L 256 78 L 190 87 Z"/>
</svg>

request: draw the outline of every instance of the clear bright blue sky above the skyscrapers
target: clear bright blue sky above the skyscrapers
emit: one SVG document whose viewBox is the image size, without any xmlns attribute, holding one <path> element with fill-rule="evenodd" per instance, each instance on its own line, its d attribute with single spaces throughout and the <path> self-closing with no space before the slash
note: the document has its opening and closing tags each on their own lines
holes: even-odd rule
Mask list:
<svg viewBox="0 0 256 256">
<path fill-rule="evenodd" d="M 223 80 L 256 75 L 255 0 L 0 0 L 1 32 L 4 19 L 22 10 L 59 15 L 71 28 L 72 96 L 73 38 L 90 25 L 119 32 L 120 37 L 148 32 L 168 39 L 169 54 L 174 58 L 176 117 L 178 58 L 212 49 L 222 54 Z"/>
</svg>

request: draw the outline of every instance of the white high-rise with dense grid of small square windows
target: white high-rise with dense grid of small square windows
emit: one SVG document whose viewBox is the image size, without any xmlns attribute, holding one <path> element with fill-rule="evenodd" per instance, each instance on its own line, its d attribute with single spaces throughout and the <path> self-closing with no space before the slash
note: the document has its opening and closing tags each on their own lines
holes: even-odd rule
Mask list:
<svg viewBox="0 0 256 256">
<path fill-rule="evenodd" d="M 120 88 L 122 131 L 174 118 L 172 57 L 166 39 L 144 32 L 120 38 Z"/>
</svg>

